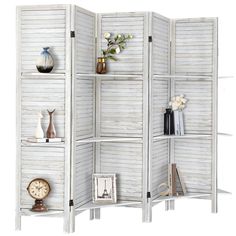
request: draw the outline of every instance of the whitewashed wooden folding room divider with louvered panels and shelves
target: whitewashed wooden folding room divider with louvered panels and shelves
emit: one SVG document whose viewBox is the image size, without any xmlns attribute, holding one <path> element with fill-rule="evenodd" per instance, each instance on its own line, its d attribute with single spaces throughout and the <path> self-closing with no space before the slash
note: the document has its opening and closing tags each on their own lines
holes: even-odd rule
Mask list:
<svg viewBox="0 0 236 236">
<path fill-rule="evenodd" d="M 134 37 L 109 72 L 96 74 L 103 34 Z M 55 66 L 38 73 L 35 61 L 49 46 Z M 21 216 L 62 216 L 73 232 L 75 215 L 100 208 L 133 206 L 144 222 L 165 201 L 160 196 L 168 164 L 181 169 L 187 194 L 206 198 L 217 212 L 217 19 L 171 20 L 152 12 L 95 14 L 74 5 L 17 8 L 17 203 Z M 163 135 L 163 108 L 171 96 L 185 94 L 185 135 Z M 30 143 L 37 113 L 56 109 L 62 143 Z M 92 202 L 92 174 L 116 173 L 116 204 Z M 27 185 L 50 181 L 48 212 L 30 211 Z"/>
</svg>

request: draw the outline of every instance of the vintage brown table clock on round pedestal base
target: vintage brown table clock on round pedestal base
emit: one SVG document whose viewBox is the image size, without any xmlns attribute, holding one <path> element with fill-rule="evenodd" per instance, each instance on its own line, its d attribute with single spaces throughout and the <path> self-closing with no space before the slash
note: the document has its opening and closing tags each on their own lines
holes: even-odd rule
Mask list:
<svg viewBox="0 0 236 236">
<path fill-rule="evenodd" d="M 29 195 L 35 199 L 35 204 L 32 206 L 32 211 L 44 212 L 47 211 L 47 207 L 44 205 L 43 200 L 48 196 L 51 191 L 49 183 L 42 178 L 33 179 L 28 187 L 27 191 Z"/>
</svg>

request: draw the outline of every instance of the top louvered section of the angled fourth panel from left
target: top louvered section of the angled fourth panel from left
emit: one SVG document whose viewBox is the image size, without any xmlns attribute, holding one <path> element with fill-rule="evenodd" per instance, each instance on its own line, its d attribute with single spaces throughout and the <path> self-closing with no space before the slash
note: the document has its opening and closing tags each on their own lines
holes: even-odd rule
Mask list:
<svg viewBox="0 0 236 236">
<path fill-rule="evenodd" d="M 152 17 L 152 70 L 153 74 L 169 73 L 169 20 L 157 15 Z"/>
</svg>

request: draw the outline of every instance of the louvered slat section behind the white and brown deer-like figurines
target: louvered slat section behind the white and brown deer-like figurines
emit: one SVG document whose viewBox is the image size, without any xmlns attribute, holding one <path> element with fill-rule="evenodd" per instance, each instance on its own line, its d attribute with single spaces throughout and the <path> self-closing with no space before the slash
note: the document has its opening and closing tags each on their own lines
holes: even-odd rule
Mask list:
<svg viewBox="0 0 236 236">
<path fill-rule="evenodd" d="M 37 78 L 37 77 L 36 77 Z M 42 128 L 46 135 L 49 124 L 48 110 L 56 109 L 53 121 L 57 137 L 64 137 L 65 130 L 65 81 L 46 79 L 22 79 L 21 82 L 21 135 L 33 137 L 42 111 Z"/>
</svg>

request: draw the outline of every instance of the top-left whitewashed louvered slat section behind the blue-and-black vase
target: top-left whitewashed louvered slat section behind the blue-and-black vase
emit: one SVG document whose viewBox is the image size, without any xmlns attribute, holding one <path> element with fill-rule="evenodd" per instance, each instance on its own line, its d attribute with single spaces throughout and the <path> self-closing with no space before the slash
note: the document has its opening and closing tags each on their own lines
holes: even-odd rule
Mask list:
<svg viewBox="0 0 236 236">
<path fill-rule="evenodd" d="M 37 72 L 36 60 L 43 47 L 54 59 L 51 73 L 65 72 L 66 10 L 21 11 L 21 71 Z"/>
</svg>

